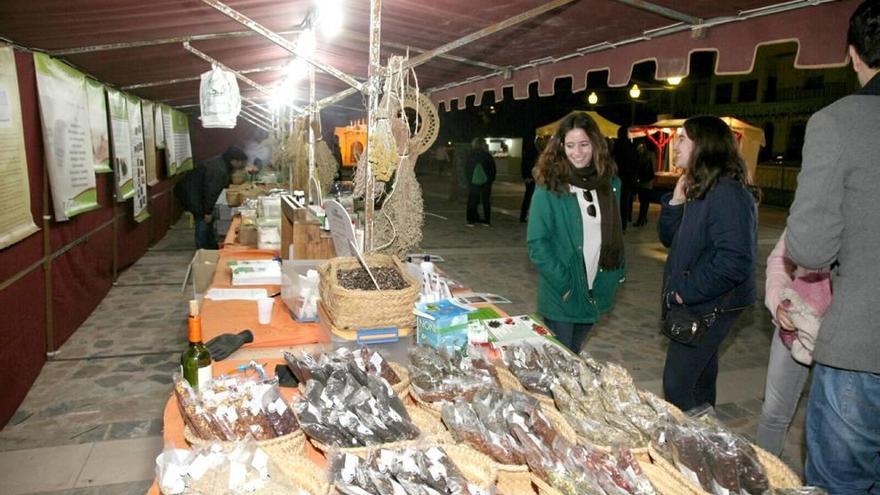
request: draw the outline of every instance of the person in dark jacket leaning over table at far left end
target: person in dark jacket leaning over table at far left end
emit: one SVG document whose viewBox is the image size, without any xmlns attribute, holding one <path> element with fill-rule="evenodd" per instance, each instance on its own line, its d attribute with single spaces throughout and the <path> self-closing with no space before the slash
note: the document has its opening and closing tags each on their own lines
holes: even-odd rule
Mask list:
<svg viewBox="0 0 880 495">
<path fill-rule="evenodd" d="M 243 170 L 246 162 L 245 152 L 230 146 L 222 155 L 199 164 L 174 187 L 174 195 L 195 220 L 196 249 L 217 249 L 214 203 L 229 185 L 232 173 Z"/>
</svg>

